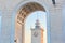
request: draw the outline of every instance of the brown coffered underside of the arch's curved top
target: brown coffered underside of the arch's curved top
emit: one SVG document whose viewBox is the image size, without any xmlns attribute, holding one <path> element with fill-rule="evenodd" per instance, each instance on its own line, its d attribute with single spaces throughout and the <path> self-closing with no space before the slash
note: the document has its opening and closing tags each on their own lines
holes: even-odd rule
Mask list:
<svg viewBox="0 0 65 43">
<path fill-rule="evenodd" d="M 20 19 L 20 17 L 26 18 L 31 12 L 35 12 L 35 11 L 44 11 L 46 12 L 46 10 L 42 5 L 40 5 L 36 2 L 29 2 L 27 4 L 24 4 L 23 8 L 20 9 L 20 12 L 17 14 L 17 19 Z M 23 20 L 21 20 L 21 22 L 24 23 Z"/>
</svg>

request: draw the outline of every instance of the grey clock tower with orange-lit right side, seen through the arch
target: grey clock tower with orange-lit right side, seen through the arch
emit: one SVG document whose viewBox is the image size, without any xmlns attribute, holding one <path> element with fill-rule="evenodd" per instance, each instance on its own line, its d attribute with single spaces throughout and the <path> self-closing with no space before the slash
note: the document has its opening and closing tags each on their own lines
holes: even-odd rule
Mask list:
<svg viewBox="0 0 65 43">
<path fill-rule="evenodd" d="M 43 43 L 43 29 L 40 27 L 38 19 L 35 28 L 31 28 L 31 43 Z"/>
</svg>

